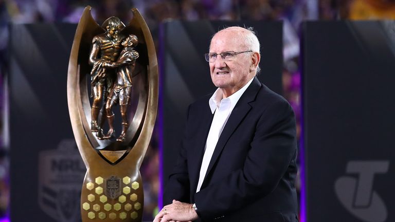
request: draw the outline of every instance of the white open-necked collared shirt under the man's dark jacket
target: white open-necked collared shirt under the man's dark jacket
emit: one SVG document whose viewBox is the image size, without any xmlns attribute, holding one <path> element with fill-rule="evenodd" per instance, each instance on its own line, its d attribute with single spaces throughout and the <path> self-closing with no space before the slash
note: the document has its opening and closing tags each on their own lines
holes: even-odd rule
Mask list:
<svg viewBox="0 0 395 222">
<path fill-rule="evenodd" d="M 223 98 L 223 92 L 221 88 L 218 88 L 212 97 L 209 99 L 208 104 L 210 105 L 211 113 L 214 117 L 211 122 L 210 131 L 208 132 L 205 152 L 203 156 L 202 166 L 200 168 L 199 182 L 197 182 L 196 193 L 200 191 L 203 184 L 203 179 L 206 176 L 208 164 L 210 163 L 214 149 L 217 146 L 218 139 L 221 136 L 222 130 L 228 121 L 233 108 L 243 95 L 244 91 L 253 82 L 252 78 L 247 84 L 241 89 L 237 90 L 236 93 L 230 95 L 227 98 Z"/>
</svg>

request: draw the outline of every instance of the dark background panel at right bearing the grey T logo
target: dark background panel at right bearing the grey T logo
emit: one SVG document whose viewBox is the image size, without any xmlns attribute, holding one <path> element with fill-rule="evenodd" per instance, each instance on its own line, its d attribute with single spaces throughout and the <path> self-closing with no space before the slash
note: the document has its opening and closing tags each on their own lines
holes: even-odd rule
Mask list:
<svg viewBox="0 0 395 222">
<path fill-rule="evenodd" d="M 386 206 L 385 221 L 395 220 L 394 27 L 378 21 L 302 25 L 307 221 L 368 221 L 347 210 L 335 191 L 340 178 L 359 181 L 346 172 L 350 161 L 389 162 L 386 173 L 374 175 L 372 190 Z M 355 188 L 345 192 L 356 195 Z"/>
</svg>

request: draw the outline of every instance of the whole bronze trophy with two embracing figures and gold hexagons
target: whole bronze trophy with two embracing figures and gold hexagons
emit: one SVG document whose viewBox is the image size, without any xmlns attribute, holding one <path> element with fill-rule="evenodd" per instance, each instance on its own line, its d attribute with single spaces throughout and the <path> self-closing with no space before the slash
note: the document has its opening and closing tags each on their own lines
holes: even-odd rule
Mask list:
<svg viewBox="0 0 395 222">
<path fill-rule="evenodd" d="M 84 222 L 142 219 L 139 168 L 156 119 L 158 67 L 147 24 L 137 9 L 132 11 L 127 26 L 117 17 L 99 26 L 87 6 L 71 48 L 67 100 L 87 169 L 81 191 Z"/>
</svg>

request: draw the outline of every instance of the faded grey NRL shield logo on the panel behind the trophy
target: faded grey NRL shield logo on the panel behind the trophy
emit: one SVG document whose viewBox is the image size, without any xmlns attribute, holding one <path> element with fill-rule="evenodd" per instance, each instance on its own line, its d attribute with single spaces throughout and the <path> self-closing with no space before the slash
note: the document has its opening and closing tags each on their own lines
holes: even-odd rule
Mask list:
<svg viewBox="0 0 395 222">
<path fill-rule="evenodd" d="M 81 183 L 85 165 L 74 139 L 62 140 L 57 149 L 39 154 L 39 205 L 59 222 L 80 221 Z"/>
</svg>

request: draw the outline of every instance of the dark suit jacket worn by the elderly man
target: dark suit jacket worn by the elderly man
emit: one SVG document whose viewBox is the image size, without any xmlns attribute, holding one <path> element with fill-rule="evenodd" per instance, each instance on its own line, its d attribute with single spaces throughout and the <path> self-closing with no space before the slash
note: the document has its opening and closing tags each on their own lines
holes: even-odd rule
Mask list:
<svg viewBox="0 0 395 222">
<path fill-rule="evenodd" d="M 202 221 L 297 221 L 294 112 L 257 78 L 232 110 L 195 193 L 213 118 L 209 98 L 189 106 L 165 205 L 195 203 Z"/>
</svg>

